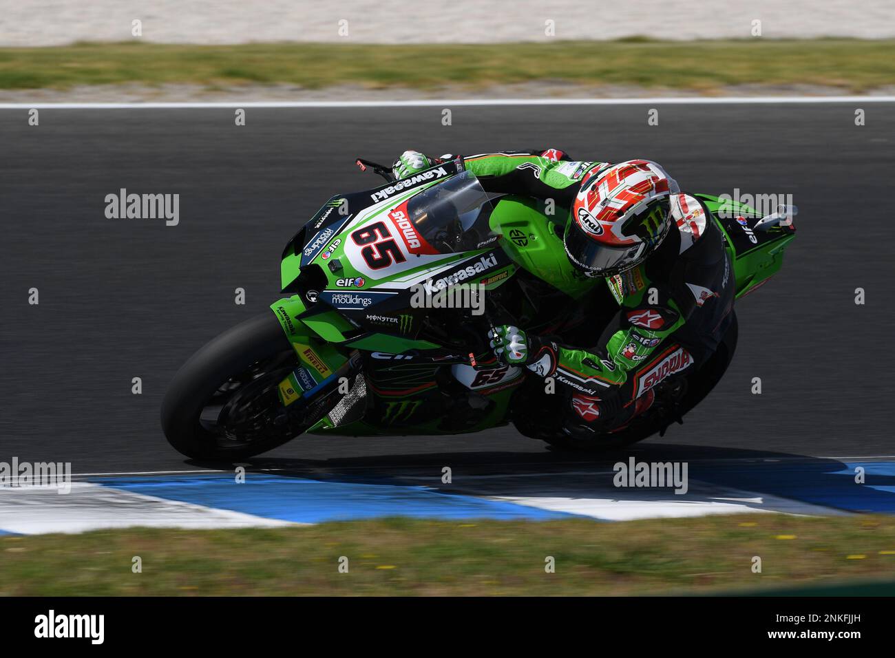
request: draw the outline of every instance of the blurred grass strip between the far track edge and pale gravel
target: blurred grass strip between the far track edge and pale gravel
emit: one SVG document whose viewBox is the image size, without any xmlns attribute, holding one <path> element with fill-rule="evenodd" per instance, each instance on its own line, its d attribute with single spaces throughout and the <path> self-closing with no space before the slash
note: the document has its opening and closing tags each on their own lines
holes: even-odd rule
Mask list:
<svg viewBox="0 0 895 658">
<path fill-rule="evenodd" d="M 0 89 L 123 82 L 477 89 L 541 80 L 705 93 L 735 84 L 805 83 L 859 92 L 895 83 L 895 41 L 625 39 L 482 46 L 128 42 L 0 48 Z"/>
</svg>

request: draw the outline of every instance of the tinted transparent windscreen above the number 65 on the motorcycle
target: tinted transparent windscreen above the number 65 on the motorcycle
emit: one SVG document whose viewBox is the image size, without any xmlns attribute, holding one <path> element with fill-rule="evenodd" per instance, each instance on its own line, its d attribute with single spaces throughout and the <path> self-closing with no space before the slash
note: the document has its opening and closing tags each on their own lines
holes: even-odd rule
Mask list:
<svg viewBox="0 0 895 658">
<path fill-rule="evenodd" d="M 464 171 L 413 196 L 407 214 L 422 238 L 439 253 L 481 248 L 493 235 L 488 193 L 475 175 Z"/>
</svg>

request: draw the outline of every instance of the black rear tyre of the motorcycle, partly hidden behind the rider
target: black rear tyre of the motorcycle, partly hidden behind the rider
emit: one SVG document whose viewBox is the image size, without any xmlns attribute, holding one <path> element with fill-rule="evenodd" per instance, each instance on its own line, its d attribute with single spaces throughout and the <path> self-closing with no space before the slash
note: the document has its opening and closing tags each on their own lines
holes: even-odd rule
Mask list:
<svg viewBox="0 0 895 658">
<path fill-rule="evenodd" d="M 703 367 L 680 380 L 669 382 L 669 390 L 684 387 L 684 392 L 674 406 L 673 414 L 655 413 L 644 415 L 644 418 L 640 419 L 639 422 L 635 419 L 635 422 L 632 422 L 621 432 L 604 434 L 592 440 L 575 439 L 567 434 L 555 435 L 550 438 L 544 438 L 544 440 L 558 449 L 601 452 L 623 448 L 637 441 L 648 439 L 657 432 L 664 432 L 669 424 L 681 420 L 684 414 L 702 402 L 704 397 L 715 388 L 715 385 L 727 372 L 734 352 L 737 349 L 737 332 L 737 316 L 734 315 L 718 349 L 703 363 Z M 659 400 L 658 396 L 657 400 Z M 668 410 L 669 407 L 666 406 L 666 412 Z"/>
</svg>

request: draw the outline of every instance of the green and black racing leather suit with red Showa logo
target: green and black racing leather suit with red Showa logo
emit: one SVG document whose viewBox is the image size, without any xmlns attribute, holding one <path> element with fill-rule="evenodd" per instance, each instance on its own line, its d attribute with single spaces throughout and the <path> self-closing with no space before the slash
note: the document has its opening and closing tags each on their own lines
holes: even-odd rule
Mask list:
<svg viewBox="0 0 895 658">
<path fill-rule="evenodd" d="M 568 215 L 581 184 L 611 163 L 575 161 L 559 150 L 461 157 L 486 192 L 552 199 Z M 562 209 L 562 210 L 560 210 Z M 530 336 L 527 367 L 567 391 L 567 431 L 620 429 L 652 404 L 652 389 L 712 355 L 732 320 L 733 268 L 702 202 L 672 195 L 674 225 L 633 269 L 605 278 L 618 312 L 589 345 Z M 601 331 L 602 329 L 602 331 Z M 568 409 L 568 407 L 566 407 Z"/>
</svg>

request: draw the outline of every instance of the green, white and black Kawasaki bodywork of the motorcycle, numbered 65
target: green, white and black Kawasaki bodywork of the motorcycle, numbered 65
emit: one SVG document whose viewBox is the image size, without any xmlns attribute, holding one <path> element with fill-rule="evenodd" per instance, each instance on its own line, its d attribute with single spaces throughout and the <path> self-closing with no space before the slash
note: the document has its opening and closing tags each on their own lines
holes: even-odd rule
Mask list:
<svg viewBox="0 0 895 658">
<path fill-rule="evenodd" d="M 362 420 L 333 427 L 324 418 L 309 432 L 460 433 L 508 422 L 510 397 L 523 380 L 522 369 L 501 365 L 490 355 L 478 355 L 476 360 L 474 355 L 449 354 L 447 347 L 419 338 L 431 310 L 411 307 L 413 286 L 428 282 L 434 291 L 473 283 L 490 291 L 507 285 L 524 269 L 577 299 L 601 283 L 584 277 L 568 261 L 562 239 L 566 218 L 551 216 L 542 202 L 533 199 L 504 196 L 491 201 L 470 229 L 481 240 L 466 244 L 464 251 L 426 248 L 429 244 L 414 230 L 419 225 L 405 221 L 414 197 L 434 199 L 429 210 L 437 215 L 439 195 L 449 186 L 446 182 L 469 175 L 456 163 L 444 163 L 373 190 L 335 196 L 286 245 L 281 282 L 284 292 L 294 294 L 273 303 L 271 309 L 300 366 L 280 386 L 283 403 L 313 397 L 332 386 L 357 367 L 359 352 L 371 366 L 366 372 L 371 402 Z M 749 227 L 759 218 L 753 209 L 697 196 L 725 235 L 737 296 L 751 292 L 780 269 L 783 247 L 795 229 L 755 231 L 752 244 L 742 224 L 720 218 L 720 212 L 746 218 Z M 423 363 L 430 355 L 440 355 L 444 361 Z M 448 365 L 453 379 L 465 382 L 456 395 L 471 391 L 487 401 L 482 413 L 464 426 L 436 415 L 446 404 L 437 377 Z"/>
</svg>

